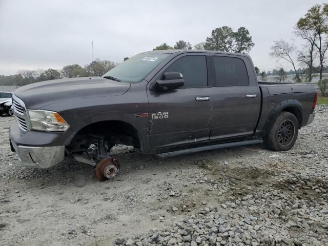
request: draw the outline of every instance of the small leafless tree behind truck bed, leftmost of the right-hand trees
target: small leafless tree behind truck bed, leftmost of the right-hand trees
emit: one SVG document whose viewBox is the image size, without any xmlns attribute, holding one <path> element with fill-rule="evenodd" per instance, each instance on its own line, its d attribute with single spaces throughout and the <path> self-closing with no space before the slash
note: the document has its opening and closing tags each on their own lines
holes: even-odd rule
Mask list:
<svg viewBox="0 0 328 246">
<path fill-rule="evenodd" d="M 293 65 L 295 71 L 295 79 L 296 82 L 300 82 L 298 71 L 295 67 L 294 59 L 292 58 L 293 53 L 296 50 L 296 46 L 294 44 L 289 44 L 284 40 L 280 39 L 279 41 L 274 41 L 274 45 L 271 46 L 270 56 L 273 58 L 284 59 Z"/>
</svg>

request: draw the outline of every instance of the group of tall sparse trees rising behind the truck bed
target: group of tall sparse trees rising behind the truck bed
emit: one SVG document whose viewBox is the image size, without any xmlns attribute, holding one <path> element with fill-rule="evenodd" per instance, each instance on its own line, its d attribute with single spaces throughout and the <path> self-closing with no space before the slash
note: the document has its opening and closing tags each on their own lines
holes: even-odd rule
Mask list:
<svg viewBox="0 0 328 246">
<path fill-rule="evenodd" d="M 283 39 L 274 41 L 271 46 L 270 56 L 277 61 L 284 60 L 293 67 L 294 81 L 300 82 L 305 75 L 305 81 L 311 82 L 314 73 L 319 73 L 322 80 L 326 51 L 328 49 L 328 4 L 316 4 L 307 13 L 299 18 L 293 30 L 294 37 L 302 40 L 303 45 L 298 49 L 294 43 Z M 303 69 L 296 69 L 299 64 Z M 282 67 L 277 71 L 287 74 Z M 259 75 L 262 75 L 260 73 Z M 281 76 L 279 76 L 281 79 Z"/>
</svg>

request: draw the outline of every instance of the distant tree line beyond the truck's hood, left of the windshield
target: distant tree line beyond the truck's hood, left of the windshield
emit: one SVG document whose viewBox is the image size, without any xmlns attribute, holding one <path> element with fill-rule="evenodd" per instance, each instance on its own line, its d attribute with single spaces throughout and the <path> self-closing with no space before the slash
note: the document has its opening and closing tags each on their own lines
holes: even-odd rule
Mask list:
<svg viewBox="0 0 328 246">
<path fill-rule="evenodd" d="M 49 68 L 47 70 L 19 70 L 15 75 L 0 75 L 1 86 L 25 86 L 38 81 L 58 78 L 73 78 L 87 76 L 101 76 L 117 66 L 109 60 L 96 59 L 89 65 L 81 67 L 78 64 L 67 65 L 61 70 Z"/>
</svg>

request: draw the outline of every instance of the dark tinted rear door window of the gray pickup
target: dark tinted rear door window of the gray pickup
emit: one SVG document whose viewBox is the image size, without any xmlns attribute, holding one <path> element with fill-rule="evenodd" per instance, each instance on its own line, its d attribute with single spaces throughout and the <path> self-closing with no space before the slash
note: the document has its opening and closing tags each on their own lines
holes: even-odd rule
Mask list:
<svg viewBox="0 0 328 246">
<path fill-rule="evenodd" d="M 245 86 L 249 84 L 246 66 L 242 59 L 213 56 L 216 80 L 213 86 Z"/>
</svg>

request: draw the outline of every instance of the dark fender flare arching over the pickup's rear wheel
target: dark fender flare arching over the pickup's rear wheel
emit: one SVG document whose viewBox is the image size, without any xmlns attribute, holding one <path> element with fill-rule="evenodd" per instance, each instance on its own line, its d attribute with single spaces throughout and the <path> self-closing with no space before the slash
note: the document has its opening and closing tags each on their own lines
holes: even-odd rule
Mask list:
<svg viewBox="0 0 328 246">
<path fill-rule="evenodd" d="M 295 115 L 297 117 L 297 119 L 299 120 L 299 128 L 301 128 L 302 124 L 303 124 L 303 107 L 302 104 L 295 99 L 290 99 L 290 100 L 284 100 L 284 101 L 280 101 L 280 103 L 278 103 L 271 111 L 270 115 L 267 118 L 267 122 L 265 123 L 264 126 L 264 132 L 267 133 L 271 126 L 273 125 L 273 122 L 275 120 L 275 118 L 282 112 L 285 111 L 286 108 L 295 108 L 298 110 L 299 112 L 299 118 L 297 117 L 297 115 Z"/>
</svg>

